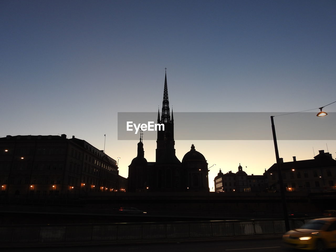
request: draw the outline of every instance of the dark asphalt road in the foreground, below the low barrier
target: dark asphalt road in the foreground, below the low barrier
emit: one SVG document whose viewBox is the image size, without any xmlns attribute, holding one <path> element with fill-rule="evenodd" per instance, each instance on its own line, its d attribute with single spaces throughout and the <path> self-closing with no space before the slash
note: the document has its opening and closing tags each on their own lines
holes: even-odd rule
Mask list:
<svg viewBox="0 0 336 252">
<path fill-rule="evenodd" d="M 130 244 L 85 247 L 61 248 L 14 248 L 5 249 L 8 252 L 284 252 L 288 251 L 281 239 L 272 240 L 247 240 L 247 241 L 207 241 L 207 242 L 179 242 L 158 244 Z"/>
</svg>

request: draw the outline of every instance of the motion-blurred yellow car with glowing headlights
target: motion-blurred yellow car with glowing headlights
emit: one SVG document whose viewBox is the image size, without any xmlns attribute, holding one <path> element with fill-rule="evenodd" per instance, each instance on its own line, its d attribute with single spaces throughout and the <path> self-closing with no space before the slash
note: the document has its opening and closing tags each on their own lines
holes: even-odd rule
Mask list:
<svg viewBox="0 0 336 252">
<path fill-rule="evenodd" d="M 300 228 L 288 231 L 282 237 L 288 247 L 325 251 L 336 248 L 336 218 L 320 218 L 308 221 Z"/>
</svg>

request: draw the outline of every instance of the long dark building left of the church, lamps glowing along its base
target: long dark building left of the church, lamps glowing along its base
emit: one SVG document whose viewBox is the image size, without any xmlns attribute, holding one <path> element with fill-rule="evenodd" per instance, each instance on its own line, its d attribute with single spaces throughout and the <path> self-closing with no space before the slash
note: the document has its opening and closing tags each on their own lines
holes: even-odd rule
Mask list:
<svg viewBox="0 0 336 252">
<path fill-rule="evenodd" d="M 126 188 L 118 184 L 116 161 L 75 136 L 8 135 L 0 150 L 3 196 L 76 198 Z"/>
</svg>

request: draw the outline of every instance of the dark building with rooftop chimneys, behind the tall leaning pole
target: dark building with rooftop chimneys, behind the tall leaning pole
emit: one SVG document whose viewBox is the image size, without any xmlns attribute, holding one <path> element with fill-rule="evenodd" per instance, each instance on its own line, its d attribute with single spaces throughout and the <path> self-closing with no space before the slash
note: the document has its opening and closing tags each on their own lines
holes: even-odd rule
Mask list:
<svg viewBox="0 0 336 252">
<path fill-rule="evenodd" d="M 314 159 L 283 162 L 280 159 L 282 178 L 287 191 L 323 192 L 335 191 L 336 160 L 324 150 Z M 280 190 L 278 183 L 277 164 L 273 164 L 266 172 L 268 187 L 271 190 Z"/>
</svg>

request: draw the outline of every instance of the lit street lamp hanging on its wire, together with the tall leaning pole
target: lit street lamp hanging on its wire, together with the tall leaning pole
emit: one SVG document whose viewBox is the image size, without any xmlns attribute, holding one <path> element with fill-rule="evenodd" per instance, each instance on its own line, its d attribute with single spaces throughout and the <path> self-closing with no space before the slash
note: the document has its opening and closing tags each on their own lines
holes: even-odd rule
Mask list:
<svg viewBox="0 0 336 252">
<path fill-rule="evenodd" d="M 336 101 L 332 102 L 335 103 Z M 328 105 L 332 104 L 329 103 Z M 326 105 L 326 106 L 328 106 Z M 324 106 L 324 107 L 326 107 Z M 322 109 L 324 107 L 319 108 L 321 112 L 319 112 L 316 116 L 326 116 L 327 113 L 323 112 Z M 315 109 L 312 109 L 315 110 Z M 308 111 L 308 110 L 305 110 Z M 299 111 L 299 112 L 304 112 L 304 111 Z M 293 113 L 289 113 L 289 114 L 294 114 L 294 113 L 299 113 L 299 112 L 293 112 Z M 288 114 L 284 114 L 284 115 L 288 115 Z M 284 115 L 279 115 L 279 116 L 284 116 Z M 287 205 L 286 205 L 286 196 L 285 196 L 285 188 L 284 188 L 284 182 L 282 179 L 282 173 L 281 173 L 281 162 L 280 162 L 280 158 L 279 158 L 279 150 L 278 150 L 278 143 L 277 143 L 277 136 L 275 133 L 275 126 L 274 126 L 274 120 L 273 120 L 274 116 L 271 116 L 271 124 L 272 124 L 272 133 L 273 133 L 273 141 L 274 141 L 274 149 L 275 149 L 275 156 L 276 156 L 276 160 L 277 160 L 277 168 L 278 168 L 278 176 L 279 176 L 279 186 L 280 186 L 280 194 L 281 194 L 281 201 L 282 201 L 282 208 L 283 208 L 283 213 L 284 213 L 284 219 L 285 219 L 285 226 L 286 226 L 286 231 L 290 230 L 289 227 L 289 219 L 288 219 L 288 213 L 287 213 Z M 294 171 L 295 169 L 292 169 L 292 171 Z"/>
</svg>

